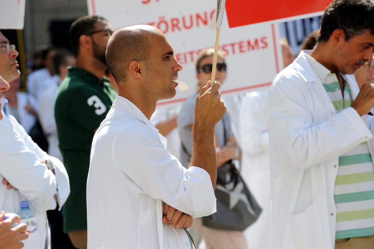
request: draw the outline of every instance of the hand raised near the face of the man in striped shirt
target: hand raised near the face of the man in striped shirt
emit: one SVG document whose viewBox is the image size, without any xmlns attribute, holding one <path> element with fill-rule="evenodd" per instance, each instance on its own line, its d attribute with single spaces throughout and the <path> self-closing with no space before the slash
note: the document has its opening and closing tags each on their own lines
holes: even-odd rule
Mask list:
<svg viewBox="0 0 374 249">
<path fill-rule="evenodd" d="M 362 116 L 370 112 L 374 106 L 374 88 L 371 85 L 363 85 L 351 107 Z"/>
</svg>

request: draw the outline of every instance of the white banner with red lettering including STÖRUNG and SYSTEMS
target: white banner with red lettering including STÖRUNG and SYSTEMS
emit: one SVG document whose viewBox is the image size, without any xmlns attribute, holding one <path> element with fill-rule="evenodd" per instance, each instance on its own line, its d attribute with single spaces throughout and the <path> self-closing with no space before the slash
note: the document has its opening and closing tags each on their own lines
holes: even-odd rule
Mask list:
<svg viewBox="0 0 374 249">
<path fill-rule="evenodd" d="M 194 62 L 203 49 L 214 47 L 216 32 L 208 29 L 208 25 L 214 15 L 217 0 L 87 0 L 87 2 L 89 14 L 104 16 L 114 29 L 128 25 L 149 24 L 159 28 L 166 35 L 174 47 L 175 57 L 184 67 L 179 73 L 179 80 L 187 83 L 189 89 L 186 92 L 177 91 L 173 99 L 162 100 L 157 105 L 180 104 L 197 91 Z M 245 3 L 242 0 L 236 2 Z M 226 1 L 226 8 L 231 8 L 230 14 L 233 10 L 232 4 L 233 0 Z M 267 2 L 266 6 L 271 4 L 279 5 L 278 1 L 272 0 Z M 328 4 L 324 5 L 326 7 Z M 256 11 L 261 13 L 263 7 Z M 290 12 L 290 15 L 295 13 Z M 276 74 L 283 68 L 277 22 L 243 24 L 245 26 L 240 26 L 240 23 L 236 22 L 240 27 L 229 28 L 230 20 L 228 22 L 226 13 L 224 15 L 219 50 L 226 56 L 228 74 L 226 82 L 221 85 L 223 96 L 269 87 Z"/>
</svg>

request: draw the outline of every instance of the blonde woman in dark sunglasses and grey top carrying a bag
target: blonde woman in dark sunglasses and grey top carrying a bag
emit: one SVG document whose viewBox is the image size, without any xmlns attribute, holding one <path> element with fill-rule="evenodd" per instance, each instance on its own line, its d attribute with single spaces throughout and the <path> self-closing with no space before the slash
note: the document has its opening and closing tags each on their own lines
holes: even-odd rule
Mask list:
<svg viewBox="0 0 374 249">
<path fill-rule="evenodd" d="M 196 77 L 199 81 L 199 90 L 206 85 L 209 80 L 211 80 L 213 54 L 213 49 L 207 49 L 197 57 Z M 224 55 L 219 52 L 215 80 L 219 81 L 221 84 L 224 84 L 224 81 L 226 80 L 226 69 L 227 66 L 224 60 Z M 194 121 L 194 109 L 197 94 L 198 92 L 194 93 L 186 100 L 186 102 L 184 102 L 181 112 L 178 115 L 178 130 L 180 132 L 182 145 L 181 163 L 185 167 L 188 167 L 188 162 L 190 161 L 192 154 L 191 128 Z M 233 123 L 228 111 L 226 111 L 223 118 L 217 123 L 217 125 L 215 125 L 215 136 L 218 167 L 224 165 L 230 160 L 240 158 L 241 150 L 234 137 Z M 208 228 L 203 226 L 202 218 L 195 219 L 194 224 L 204 237 L 207 249 L 247 248 L 244 234 L 241 231 L 226 231 Z M 197 242 L 198 239 L 196 234 L 194 234 L 194 228 L 192 228 L 191 232 L 195 242 Z M 198 247 L 198 245 L 196 246 Z"/>
</svg>

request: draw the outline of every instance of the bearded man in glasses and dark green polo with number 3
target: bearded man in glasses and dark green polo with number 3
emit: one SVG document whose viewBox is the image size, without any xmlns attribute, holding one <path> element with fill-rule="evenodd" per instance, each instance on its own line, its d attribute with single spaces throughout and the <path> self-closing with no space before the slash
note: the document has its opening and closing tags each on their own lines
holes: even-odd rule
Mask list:
<svg viewBox="0 0 374 249">
<path fill-rule="evenodd" d="M 56 97 L 59 148 L 71 193 L 62 210 L 64 232 L 76 248 L 87 248 L 86 183 L 93 135 L 117 92 L 106 78 L 105 50 L 112 31 L 101 16 L 83 16 L 70 27 L 76 67 L 68 68 Z"/>
</svg>

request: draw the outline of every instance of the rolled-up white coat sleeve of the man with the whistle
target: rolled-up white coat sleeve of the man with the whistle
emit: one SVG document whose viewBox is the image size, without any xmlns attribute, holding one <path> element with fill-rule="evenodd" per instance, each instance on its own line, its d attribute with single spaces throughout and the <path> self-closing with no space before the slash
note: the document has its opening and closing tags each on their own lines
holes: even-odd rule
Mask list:
<svg viewBox="0 0 374 249">
<path fill-rule="evenodd" d="M 113 160 L 153 199 L 196 218 L 216 212 L 208 172 L 196 166 L 185 169 L 153 131 L 134 124 L 120 130 L 113 142 Z"/>
</svg>

